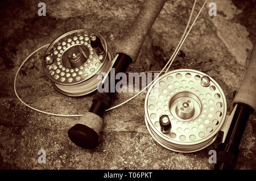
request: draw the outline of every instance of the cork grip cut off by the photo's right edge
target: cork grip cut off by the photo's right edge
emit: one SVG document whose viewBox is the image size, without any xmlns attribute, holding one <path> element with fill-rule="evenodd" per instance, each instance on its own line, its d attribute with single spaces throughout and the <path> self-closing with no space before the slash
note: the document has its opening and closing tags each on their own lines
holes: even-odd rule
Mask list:
<svg viewBox="0 0 256 181">
<path fill-rule="evenodd" d="M 242 85 L 238 90 L 234 103 L 247 104 L 253 111 L 256 110 L 256 46 L 254 43 L 253 50 L 249 58 L 249 66 L 243 78 Z"/>
</svg>

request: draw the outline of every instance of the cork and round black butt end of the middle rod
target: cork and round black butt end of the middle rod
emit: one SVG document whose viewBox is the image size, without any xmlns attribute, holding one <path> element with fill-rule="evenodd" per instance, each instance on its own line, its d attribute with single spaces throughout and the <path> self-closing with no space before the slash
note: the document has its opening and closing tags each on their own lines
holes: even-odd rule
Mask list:
<svg viewBox="0 0 256 181">
<path fill-rule="evenodd" d="M 73 143 L 81 148 L 92 149 L 98 145 L 98 136 L 103 120 L 92 112 L 85 112 L 80 122 L 68 130 L 68 136 Z"/>
</svg>

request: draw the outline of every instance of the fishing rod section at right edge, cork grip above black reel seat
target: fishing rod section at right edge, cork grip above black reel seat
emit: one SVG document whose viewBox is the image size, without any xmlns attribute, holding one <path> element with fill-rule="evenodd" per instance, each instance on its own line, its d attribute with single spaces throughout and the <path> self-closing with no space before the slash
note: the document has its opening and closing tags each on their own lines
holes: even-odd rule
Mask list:
<svg viewBox="0 0 256 181">
<path fill-rule="evenodd" d="M 232 116 L 225 141 L 222 141 L 217 151 L 217 163 L 214 170 L 234 169 L 236 166 L 239 145 L 249 116 L 256 110 L 256 46 L 251 52 L 245 77 L 233 100 Z"/>
</svg>

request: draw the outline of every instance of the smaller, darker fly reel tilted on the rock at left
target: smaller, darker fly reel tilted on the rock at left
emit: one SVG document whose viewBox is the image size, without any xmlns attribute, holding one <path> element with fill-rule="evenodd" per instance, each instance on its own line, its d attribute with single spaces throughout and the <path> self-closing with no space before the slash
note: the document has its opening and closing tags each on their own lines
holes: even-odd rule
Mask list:
<svg viewBox="0 0 256 181">
<path fill-rule="evenodd" d="M 83 29 L 58 37 L 46 50 L 43 70 L 61 94 L 81 96 L 97 90 L 102 79 L 98 73 L 108 73 L 112 56 L 103 36 Z"/>
</svg>

